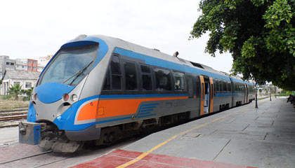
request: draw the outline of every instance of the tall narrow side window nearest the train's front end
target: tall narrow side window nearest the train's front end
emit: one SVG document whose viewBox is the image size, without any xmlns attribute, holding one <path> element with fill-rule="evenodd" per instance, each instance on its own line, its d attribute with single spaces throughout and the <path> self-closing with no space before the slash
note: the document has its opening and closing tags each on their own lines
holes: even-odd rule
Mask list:
<svg viewBox="0 0 295 168">
<path fill-rule="evenodd" d="M 121 75 L 119 57 L 117 55 L 112 56 L 111 72 L 112 72 L 112 90 L 121 90 L 122 75 Z"/>
</svg>

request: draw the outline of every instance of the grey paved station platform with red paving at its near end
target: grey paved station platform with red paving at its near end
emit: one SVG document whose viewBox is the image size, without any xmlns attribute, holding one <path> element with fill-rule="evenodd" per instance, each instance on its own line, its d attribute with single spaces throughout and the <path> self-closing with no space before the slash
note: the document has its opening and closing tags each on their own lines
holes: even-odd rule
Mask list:
<svg viewBox="0 0 295 168">
<path fill-rule="evenodd" d="M 263 99 L 155 132 L 78 167 L 294 167 L 295 111 Z"/>
</svg>

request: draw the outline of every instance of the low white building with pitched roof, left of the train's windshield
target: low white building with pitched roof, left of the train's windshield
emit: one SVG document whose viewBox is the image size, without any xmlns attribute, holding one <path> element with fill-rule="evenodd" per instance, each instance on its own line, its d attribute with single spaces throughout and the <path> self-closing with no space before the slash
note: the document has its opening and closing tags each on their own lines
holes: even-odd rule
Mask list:
<svg viewBox="0 0 295 168">
<path fill-rule="evenodd" d="M 6 70 L 0 85 L 0 94 L 8 94 L 9 87 L 15 84 L 20 84 L 22 90 L 27 90 L 36 85 L 40 72 L 22 71 L 22 70 Z"/>
</svg>

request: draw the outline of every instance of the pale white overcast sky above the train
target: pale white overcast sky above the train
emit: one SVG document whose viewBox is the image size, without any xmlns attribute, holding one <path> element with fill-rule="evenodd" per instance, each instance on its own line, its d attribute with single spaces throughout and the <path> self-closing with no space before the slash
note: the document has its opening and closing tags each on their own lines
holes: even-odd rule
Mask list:
<svg viewBox="0 0 295 168">
<path fill-rule="evenodd" d="M 229 53 L 204 53 L 208 34 L 188 41 L 198 7 L 199 0 L 1 0 L 0 55 L 44 57 L 80 34 L 101 34 L 229 72 Z"/>
</svg>

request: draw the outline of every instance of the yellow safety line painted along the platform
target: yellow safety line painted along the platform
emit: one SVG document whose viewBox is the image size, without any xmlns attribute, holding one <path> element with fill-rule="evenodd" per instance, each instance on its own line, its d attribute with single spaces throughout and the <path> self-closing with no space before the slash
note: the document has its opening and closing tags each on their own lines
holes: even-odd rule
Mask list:
<svg viewBox="0 0 295 168">
<path fill-rule="evenodd" d="M 223 116 L 223 117 L 221 117 L 221 118 L 216 118 L 215 120 L 211 120 L 211 121 L 209 121 L 208 123 L 204 123 L 204 124 L 199 125 L 199 126 L 197 126 L 197 127 L 193 127 L 193 128 L 190 129 L 190 130 L 186 130 L 186 131 L 184 131 L 184 132 L 181 132 L 181 133 L 179 133 L 179 134 L 176 134 L 176 135 L 174 135 L 173 137 L 171 137 L 170 139 L 168 139 L 168 140 L 162 142 L 161 144 L 158 144 L 158 145 L 155 146 L 154 148 L 151 148 L 150 151 L 147 151 L 147 152 L 145 152 L 145 153 L 139 155 L 137 158 L 135 158 L 135 159 L 133 159 L 133 160 L 131 160 L 131 161 L 129 161 L 129 162 L 126 162 L 126 163 L 124 163 L 123 165 L 119 165 L 119 166 L 116 167 L 116 168 L 124 168 L 124 167 L 128 167 L 129 165 L 132 165 L 133 163 L 138 162 L 138 161 L 141 160 L 142 158 L 145 158 L 146 155 L 152 153 L 152 151 L 155 151 L 157 148 L 159 148 L 159 147 L 161 147 L 161 146 L 164 146 L 164 144 L 167 144 L 169 141 L 172 141 L 172 140 L 175 139 L 176 137 L 178 137 L 178 136 L 180 136 L 180 135 L 182 135 L 182 134 L 186 134 L 186 133 L 188 133 L 188 132 L 191 132 L 192 130 L 196 130 L 196 129 L 200 128 L 200 127 L 204 127 L 204 126 L 206 126 L 206 125 L 209 125 L 209 124 L 211 124 L 211 123 L 214 123 L 214 122 L 216 122 L 216 121 L 218 121 L 218 120 L 221 120 L 222 118 L 226 118 L 226 117 L 228 117 L 228 116 L 230 116 L 230 115 L 232 115 L 232 114 L 233 114 L 233 113 L 229 113 L 229 114 L 227 114 L 227 115 L 225 115 L 225 116 Z"/>
</svg>

